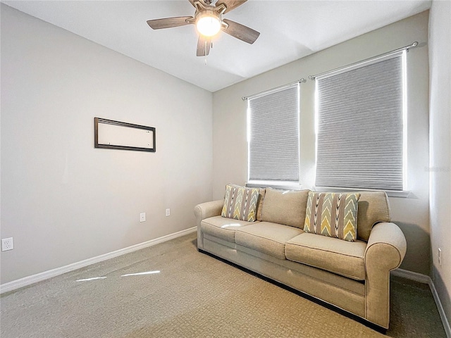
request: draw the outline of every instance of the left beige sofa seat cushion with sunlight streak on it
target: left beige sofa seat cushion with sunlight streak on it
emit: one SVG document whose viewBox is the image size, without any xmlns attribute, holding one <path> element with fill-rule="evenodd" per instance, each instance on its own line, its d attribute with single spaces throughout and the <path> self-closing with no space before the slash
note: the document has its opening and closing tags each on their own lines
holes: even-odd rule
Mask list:
<svg viewBox="0 0 451 338">
<path fill-rule="evenodd" d="M 259 222 L 246 222 L 245 220 L 233 220 L 222 216 L 214 216 L 202 220 L 200 228 L 205 234 L 218 237 L 227 242 L 235 243 L 235 230 L 249 224 L 258 224 Z"/>
</svg>

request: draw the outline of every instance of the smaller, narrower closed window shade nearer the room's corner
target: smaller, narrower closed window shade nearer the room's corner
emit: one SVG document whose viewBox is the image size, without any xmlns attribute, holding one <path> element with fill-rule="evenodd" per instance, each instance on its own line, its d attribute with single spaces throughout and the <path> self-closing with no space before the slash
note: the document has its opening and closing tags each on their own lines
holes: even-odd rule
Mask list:
<svg viewBox="0 0 451 338">
<path fill-rule="evenodd" d="M 249 181 L 299 182 L 298 86 L 248 99 Z"/>
</svg>

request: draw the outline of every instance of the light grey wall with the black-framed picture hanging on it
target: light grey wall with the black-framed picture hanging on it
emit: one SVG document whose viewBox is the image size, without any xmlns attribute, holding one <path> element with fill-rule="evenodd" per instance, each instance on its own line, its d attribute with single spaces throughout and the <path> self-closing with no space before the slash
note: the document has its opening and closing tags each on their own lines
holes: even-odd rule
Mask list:
<svg viewBox="0 0 451 338">
<path fill-rule="evenodd" d="M 211 104 L 1 4 L 1 284 L 193 227 L 212 194 Z M 94 149 L 94 116 L 156 127 L 156 153 Z"/>
</svg>

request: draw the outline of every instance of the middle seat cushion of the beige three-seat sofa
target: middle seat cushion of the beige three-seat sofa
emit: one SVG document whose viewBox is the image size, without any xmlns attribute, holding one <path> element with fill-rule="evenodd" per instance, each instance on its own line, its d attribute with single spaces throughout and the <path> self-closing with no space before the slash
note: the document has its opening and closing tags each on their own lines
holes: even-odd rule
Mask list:
<svg viewBox="0 0 451 338">
<path fill-rule="evenodd" d="M 285 243 L 303 232 L 304 230 L 298 227 L 278 223 L 252 223 L 236 230 L 235 243 L 285 259 Z"/>
</svg>

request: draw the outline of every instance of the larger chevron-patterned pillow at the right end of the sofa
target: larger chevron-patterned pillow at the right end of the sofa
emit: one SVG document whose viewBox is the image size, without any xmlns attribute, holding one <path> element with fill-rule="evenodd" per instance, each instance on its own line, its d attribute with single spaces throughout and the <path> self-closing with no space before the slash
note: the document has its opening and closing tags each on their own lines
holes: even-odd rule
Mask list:
<svg viewBox="0 0 451 338">
<path fill-rule="evenodd" d="M 354 242 L 358 193 L 309 192 L 304 231 Z"/>
</svg>

